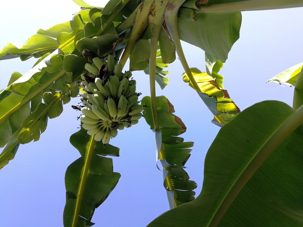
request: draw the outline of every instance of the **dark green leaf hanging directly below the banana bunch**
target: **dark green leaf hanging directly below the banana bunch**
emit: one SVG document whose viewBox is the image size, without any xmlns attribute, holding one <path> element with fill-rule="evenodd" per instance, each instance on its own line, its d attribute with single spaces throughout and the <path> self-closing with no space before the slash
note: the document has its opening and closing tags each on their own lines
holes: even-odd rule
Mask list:
<svg viewBox="0 0 303 227">
<path fill-rule="evenodd" d="M 70 137 L 81 158 L 66 170 L 66 204 L 63 214 L 64 227 L 91 226 L 94 211 L 107 198 L 120 178 L 113 172 L 112 159 L 101 155 L 119 155 L 119 148 L 103 146 L 83 128 Z"/>
</svg>

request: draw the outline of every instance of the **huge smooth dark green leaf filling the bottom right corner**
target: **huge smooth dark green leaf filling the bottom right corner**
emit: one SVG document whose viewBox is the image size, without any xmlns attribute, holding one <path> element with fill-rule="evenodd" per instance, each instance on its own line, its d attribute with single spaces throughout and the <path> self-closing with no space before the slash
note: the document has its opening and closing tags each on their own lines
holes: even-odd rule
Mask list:
<svg viewBox="0 0 303 227">
<path fill-rule="evenodd" d="M 263 101 L 222 127 L 201 194 L 149 226 L 302 226 L 303 107 Z"/>
</svg>

